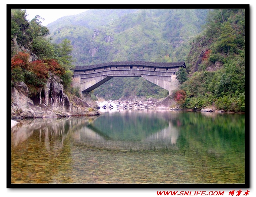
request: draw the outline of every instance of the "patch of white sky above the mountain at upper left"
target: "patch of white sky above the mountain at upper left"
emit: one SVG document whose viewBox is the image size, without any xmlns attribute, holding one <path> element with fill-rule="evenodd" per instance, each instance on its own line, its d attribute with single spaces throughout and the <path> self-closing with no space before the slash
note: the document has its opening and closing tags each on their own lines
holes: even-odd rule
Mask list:
<svg viewBox="0 0 256 197">
<path fill-rule="evenodd" d="M 42 25 L 47 26 L 49 23 L 56 21 L 57 19 L 61 18 L 62 16 L 70 16 L 85 12 L 89 9 L 23 9 L 26 10 L 28 16 L 26 17 L 27 20 L 32 20 L 36 15 L 41 16 L 44 18 L 42 20 Z"/>
</svg>

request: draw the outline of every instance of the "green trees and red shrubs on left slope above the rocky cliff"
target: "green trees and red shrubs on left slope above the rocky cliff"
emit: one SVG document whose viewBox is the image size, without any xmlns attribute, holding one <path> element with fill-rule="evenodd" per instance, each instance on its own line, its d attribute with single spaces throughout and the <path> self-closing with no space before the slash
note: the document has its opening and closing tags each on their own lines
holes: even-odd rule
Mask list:
<svg viewBox="0 0 256 197">
<path fill-rule="evenodd" d="M 52 72 L 63 80 L 65 90 L 72 92 L 72 45 L 67 39 L 53 44 L 40 19 L 35 16 L 28 21 L 26 10 L 11 12 L 12 82 L 24 81 L 30 90 L 38 90 Z"/>
</svg>

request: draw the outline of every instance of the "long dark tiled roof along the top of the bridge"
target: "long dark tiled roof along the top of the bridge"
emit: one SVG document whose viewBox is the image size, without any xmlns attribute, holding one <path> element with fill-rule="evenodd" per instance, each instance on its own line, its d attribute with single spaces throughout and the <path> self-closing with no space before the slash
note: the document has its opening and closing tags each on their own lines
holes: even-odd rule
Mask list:
<svg viewBox="0 0 256 197">
<path fill-rule="evenodd" d="M 172 68 L 183 66 L 186 68 L 184 61 L 179 62 L 151 62 L 151 61 L 112 61 L 97 65 L 87 65 L 87 66 L 76 66 L 73 70 L 89 70 L 94 68 L 102 68 L 108 66 L 149 66 L 149 67 L 164 67 Z"/>
</svg>

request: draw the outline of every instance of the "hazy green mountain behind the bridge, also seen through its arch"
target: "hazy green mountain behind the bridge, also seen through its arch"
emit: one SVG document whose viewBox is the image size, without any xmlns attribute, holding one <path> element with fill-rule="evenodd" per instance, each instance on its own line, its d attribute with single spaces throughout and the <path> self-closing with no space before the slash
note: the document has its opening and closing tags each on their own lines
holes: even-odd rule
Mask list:
<svg viewBox="0 0 256 197">
<path fill-rule="evenodd" d="M 71 40 L 75 65 L 109 61 L 184 61 L 188 40 L 202 31 L 208 10 L 88 10 L 47 27 L 52 42 Z M 134 85 L 133 85 L 134 84 Z M 145 87 L 147 87 L 145 89 Z M 161 98 L 168 91 L 142 78 L 113 78 L 94 94 L 105 99 Z"/>
</svg>

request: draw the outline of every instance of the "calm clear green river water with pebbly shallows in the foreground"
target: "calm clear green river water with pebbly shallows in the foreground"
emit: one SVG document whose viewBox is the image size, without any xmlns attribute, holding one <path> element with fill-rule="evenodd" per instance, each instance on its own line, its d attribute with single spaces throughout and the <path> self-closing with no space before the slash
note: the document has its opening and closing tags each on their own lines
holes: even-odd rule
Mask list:
<svg viewBox="0 0 256 197">
<path fill-rule="evenodd" d="M 106 111 L 12 128 L 12 183 L 244 184 L 244 114 Z"/>
</svg>

